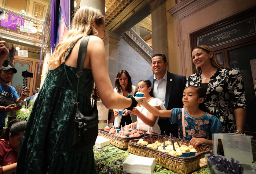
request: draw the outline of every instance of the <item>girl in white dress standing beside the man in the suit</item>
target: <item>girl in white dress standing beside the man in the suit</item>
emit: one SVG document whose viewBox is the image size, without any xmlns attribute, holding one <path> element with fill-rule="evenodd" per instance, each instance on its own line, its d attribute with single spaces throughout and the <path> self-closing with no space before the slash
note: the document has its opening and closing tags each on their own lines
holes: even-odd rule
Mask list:
<svg viewBox="0 0 256 174">
<path fill-rule="evenodd" d="M 166 110 L 162 101 L 158 98 L 152 97 L 151 92 L 151 82 L 150 80 L 140 80 L 138 83 L 138 91 L 144 93 L 144 101 L 147 101 L 151 106 L 156 107 L 158 110 Z M 129 113 L 135 114 L 137 117 L 137 121 L 129 124 L 127 128 L 135 128 L 142 129 L 146 131 L 152 131 L 154 133 L 161 133 L 160 127 L 157 122 L 159 117 L 151 114 L 145 107 L 134 107 L 133 110 L 128 110 Z"/>
</svg>

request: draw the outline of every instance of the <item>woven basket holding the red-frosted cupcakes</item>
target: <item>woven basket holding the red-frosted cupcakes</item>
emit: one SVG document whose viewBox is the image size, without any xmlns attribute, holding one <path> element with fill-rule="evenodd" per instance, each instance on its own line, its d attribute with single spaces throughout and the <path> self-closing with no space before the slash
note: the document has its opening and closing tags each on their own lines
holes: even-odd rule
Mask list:
<svg viewBox="0 0 256 174">
<path fill-rule="evenodd" d="M 99 136 L 103 136 L 103 137 L 109 139 L 110 140 L 110 144 L 112 144 L 112 145 L 114 145 L 116 147 L 119 147 L 121 149 L 128 148 L 130 140 L 140 139 L 140 138 L 142 138 L 144 136 L 144 134 L 142 134 L 142 135 L 140 135 L 138 137 L 121 138 L 121 137 L 115 136 L 115 135 L 113 135 L 111 133 L 104 132 L 103 129 L 98 130 L 98 135 Z"/>
</svg>

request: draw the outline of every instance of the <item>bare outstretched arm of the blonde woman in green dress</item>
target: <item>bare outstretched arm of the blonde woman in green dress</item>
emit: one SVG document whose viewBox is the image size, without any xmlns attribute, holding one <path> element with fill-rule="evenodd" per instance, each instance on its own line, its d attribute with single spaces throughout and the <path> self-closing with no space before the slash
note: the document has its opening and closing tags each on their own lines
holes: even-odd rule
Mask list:
<svg viewBox="0 0 256 174">
<path fill-rule="evenodd" d="M 87 53 L 89 54 L 89 64 L 92 69 L 94 82 L 103 105 L 108 109 L 127 108 L 131 106 L 132 100 L 130 98 L 123 97 L 113 91 L 106 68 L 105 46 L 99 37 L 90 37 Z"/>
</svg>

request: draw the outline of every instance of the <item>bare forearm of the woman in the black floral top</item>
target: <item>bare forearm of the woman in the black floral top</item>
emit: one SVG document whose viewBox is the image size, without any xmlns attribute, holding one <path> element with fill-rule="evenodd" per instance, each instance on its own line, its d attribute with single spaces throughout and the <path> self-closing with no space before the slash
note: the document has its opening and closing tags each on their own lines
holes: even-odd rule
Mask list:
<svg viewBox="0 0 256 174">
<path fill-rule="evenodd" d="M 246 110 L 244 108 L 234 109 L 235 124 L 237 125 L 237 130 L 244 132 L 244 125 L 246 121 Z"/>
</svg>

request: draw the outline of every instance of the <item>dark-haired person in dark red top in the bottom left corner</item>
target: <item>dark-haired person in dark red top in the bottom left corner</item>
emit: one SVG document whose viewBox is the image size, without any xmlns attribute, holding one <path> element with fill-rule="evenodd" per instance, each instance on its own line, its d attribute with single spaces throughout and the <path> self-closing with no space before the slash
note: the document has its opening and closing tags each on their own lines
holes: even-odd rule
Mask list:
<svg viewBox="0 0 256 174">
<path fill-rule="evenodd" d="M 15 173 L 19 142 L 27 122 L 11 120 L 0 137 L 0 174 Z"/>
</svg>

